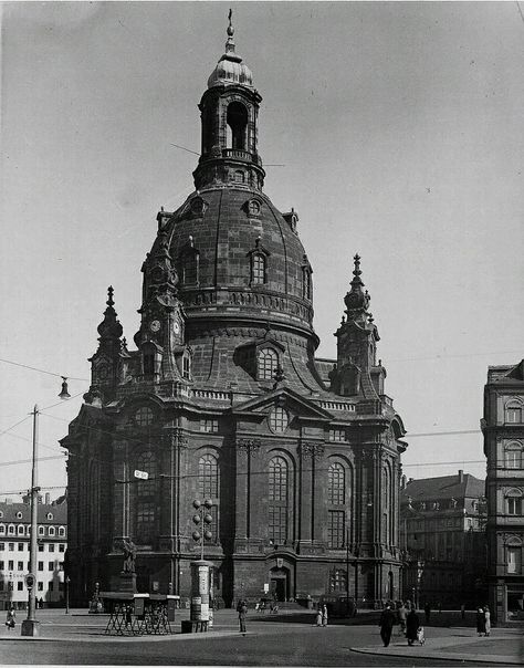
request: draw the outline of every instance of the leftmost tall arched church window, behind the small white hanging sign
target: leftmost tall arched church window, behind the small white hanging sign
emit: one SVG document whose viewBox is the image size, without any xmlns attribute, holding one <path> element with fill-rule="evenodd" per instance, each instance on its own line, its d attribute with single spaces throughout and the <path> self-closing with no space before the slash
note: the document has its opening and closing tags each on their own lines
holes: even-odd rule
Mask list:
<svg viewBox="0 0 524 668">
<path fill-rule="evenodd" d="M 156 459 L 150 450 L 140 452 L 135 459 L 135 469 L 149 473 L 147 480 L 134 483 L 135 488 L 135 540 L 137 543 L 150 544 L 155 537 L 157 482 Z"/>
</svg>

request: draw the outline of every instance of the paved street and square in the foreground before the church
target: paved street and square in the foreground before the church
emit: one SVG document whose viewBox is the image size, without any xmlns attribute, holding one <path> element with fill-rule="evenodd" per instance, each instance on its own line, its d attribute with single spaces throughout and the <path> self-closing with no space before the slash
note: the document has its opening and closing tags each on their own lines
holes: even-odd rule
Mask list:
<svg viewBox="0 0 524 668">
<path fill-rule="evenodd" d="M 21 615 L 19 622 L 20 618 Z M 35 639 L 22 638 L 20 624 L 14 633 L 2 627 L 1 664 L 449 666 L 462 658 L 463 665 L 473 666 L 479 665 L 481 655 L 500 662 L 499 655 L 513 653 L 517 658 L 522 649 L 522 629 L 495 629 L 492 638 L 478 639 L 471 628 L 446 627 L 428 628 L 423 648 L 407 648 L 406 640 L 395 636 L 386 649 L 381 647 L 376 624 L 317 628 L 311 615 L 251 618 L 244 637 L 238 633 L 235 613 L 220 610 L 216 630 L 209 634 L 111 639 L 104 635 L 105 615 L 39 610 L 39 619 L 41 636 Z M 178 632 L 179 619 L 175 626 Z M 465 656 L 465 661 L 458 651 Z M 410 657 L 409 664 L 406 656 Z"/>
</svg>

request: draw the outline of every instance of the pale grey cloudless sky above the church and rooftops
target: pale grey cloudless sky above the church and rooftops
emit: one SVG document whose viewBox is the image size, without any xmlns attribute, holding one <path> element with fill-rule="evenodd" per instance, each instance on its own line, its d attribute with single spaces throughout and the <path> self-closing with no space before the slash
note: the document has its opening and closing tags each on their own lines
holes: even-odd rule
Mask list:
<svg viewBox="0 0 524 668">
<path fill-rule="evenodd" d="M 193 189 L 198 157 L 172 144 L 200 148 L 230 6 L 262 159 L 284 165 L 264 191 L 298 212 L 314 270 L 317 356 L 336 356 L 358 252 L 405 473 L 485 474 L 488 365 L 524 357 L 522 6 L 14 2 L 0 8 L 0 358 L 49 373 L 0 362 L 0 499 L 31 484 L 35 404 L 39 482 L 64 491 L 57 440 L 107 286 L 130 342 L 156 213 Z"/>
</svg>

